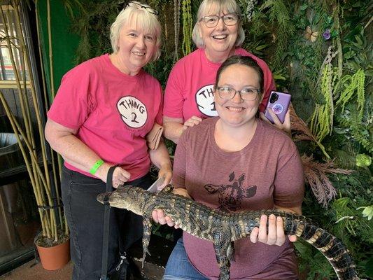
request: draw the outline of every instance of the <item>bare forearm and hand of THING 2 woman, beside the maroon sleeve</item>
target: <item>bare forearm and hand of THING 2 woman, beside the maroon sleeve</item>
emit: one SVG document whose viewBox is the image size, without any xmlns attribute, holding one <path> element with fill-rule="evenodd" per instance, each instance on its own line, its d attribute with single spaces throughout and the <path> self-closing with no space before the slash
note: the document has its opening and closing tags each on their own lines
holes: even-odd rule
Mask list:
<svg viewBox="0 0 373 280">
<path fill-rule="evenodd" d="M 172 177 L 172 166 L 171 160 L 169 159 L 169 153 L 167 151 L 166 144 L 164 140 L 160 139 L 160 144 L 157 149 L 149 150 L 150 161 L 160 169 L 158 172 L 158 177 L 164 178 L 162 185 L 159 187 L 159 190 L 162 190 L 164 186 L 167 186 L 171 181 Z"/>
</svg>

